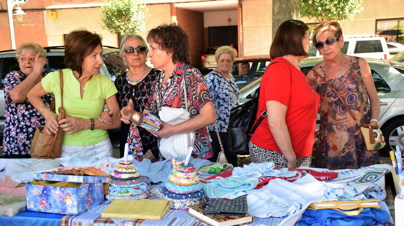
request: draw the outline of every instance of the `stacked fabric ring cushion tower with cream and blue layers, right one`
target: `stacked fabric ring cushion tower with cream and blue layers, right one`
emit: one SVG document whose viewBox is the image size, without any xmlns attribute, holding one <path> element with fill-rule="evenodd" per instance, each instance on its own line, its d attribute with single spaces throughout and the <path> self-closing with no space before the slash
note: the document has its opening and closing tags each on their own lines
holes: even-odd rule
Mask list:
<svg viewBox="0 0 404 226">
<path fill-rule="evenodd" d="M 168 180 L 162 183 L 160 196 L 171 201 L 173 209 L 187 209 L 189 205 L 200 203 L 205 192 L 202 190 L 202 183 L 196 176 L 196 169 L 191 164 L 173 162 L 173 173 Z"/>
</svg>

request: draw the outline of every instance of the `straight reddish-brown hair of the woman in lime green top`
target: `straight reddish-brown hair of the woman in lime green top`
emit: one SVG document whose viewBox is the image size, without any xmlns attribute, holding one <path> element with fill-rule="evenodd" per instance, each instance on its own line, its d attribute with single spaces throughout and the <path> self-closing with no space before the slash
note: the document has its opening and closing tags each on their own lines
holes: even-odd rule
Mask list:
<svg viewBox="0 0 404 226">
<path fill-rule="evenodd" d="M 65 38 L 65 65 L 82 75 L 81 65 L 97 46 L 102 48 L 101 35 L 84 28 L 70 31 Z"/>
</svg>

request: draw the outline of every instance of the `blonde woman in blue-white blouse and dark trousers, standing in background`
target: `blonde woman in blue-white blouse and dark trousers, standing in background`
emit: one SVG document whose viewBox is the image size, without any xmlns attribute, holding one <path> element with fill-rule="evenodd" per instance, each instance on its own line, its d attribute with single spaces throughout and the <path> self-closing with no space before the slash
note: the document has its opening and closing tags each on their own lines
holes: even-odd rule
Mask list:
<svg viewBox="0 0 404 226">
<path fill-rule="evenodd" d="M 216 126 L 219 137 L 223 146 L 223 150 L 227 162 L 237 166 L 237 155 L 231 154 L 227 149 L 227 127 L 229 126 L 230 110 L 238 106 L 238 96 L 240 90 L 231 75 L 230 69 L 233 66 L 236 53 L 230 46 L 221 46 L 215 52 L 215 60 L 217 68 L 211 71 L 205 78 L 206 85 L 210 95 L 212 96 L 213 105 L 215 106 L 217 120 Z M 213 158 L 211 161 L 216 162 L 217 156 L 221 151 L 219 139 L 217 137 L 215 124 L 208 126 L 210 137 L 212 138 Z"/>
</svg>

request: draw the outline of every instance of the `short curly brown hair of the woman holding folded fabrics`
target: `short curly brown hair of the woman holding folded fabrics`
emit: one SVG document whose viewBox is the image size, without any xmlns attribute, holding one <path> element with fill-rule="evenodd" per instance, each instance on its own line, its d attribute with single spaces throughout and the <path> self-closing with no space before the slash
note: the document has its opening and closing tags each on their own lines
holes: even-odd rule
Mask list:
<svg viewBox="0 0 404 226">
<path fill-rule="evenodd" d="M 158 44 L 160 50 L 173 54 L 171 59 L 174 64 L 176 62 L 190 63 L 189 37 L 179 25 L 163 23 L 147 32 L 146 40 L 148 43 L 153 41 Z"/>
</svg>

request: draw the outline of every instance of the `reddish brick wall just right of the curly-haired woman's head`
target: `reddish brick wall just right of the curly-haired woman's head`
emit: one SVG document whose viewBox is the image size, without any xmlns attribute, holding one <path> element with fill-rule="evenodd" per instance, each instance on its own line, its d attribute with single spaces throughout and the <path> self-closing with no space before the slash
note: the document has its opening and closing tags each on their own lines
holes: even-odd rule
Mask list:
<svg viewBox="0 0 404 226">
<path fill-rule="evenodd" d="M 176 8 L 178 25 L 180 25 L 190 41 L 191 66 L 200 68 L 200 60 L 205 52 L 203 12 Z"/>
</svg>

